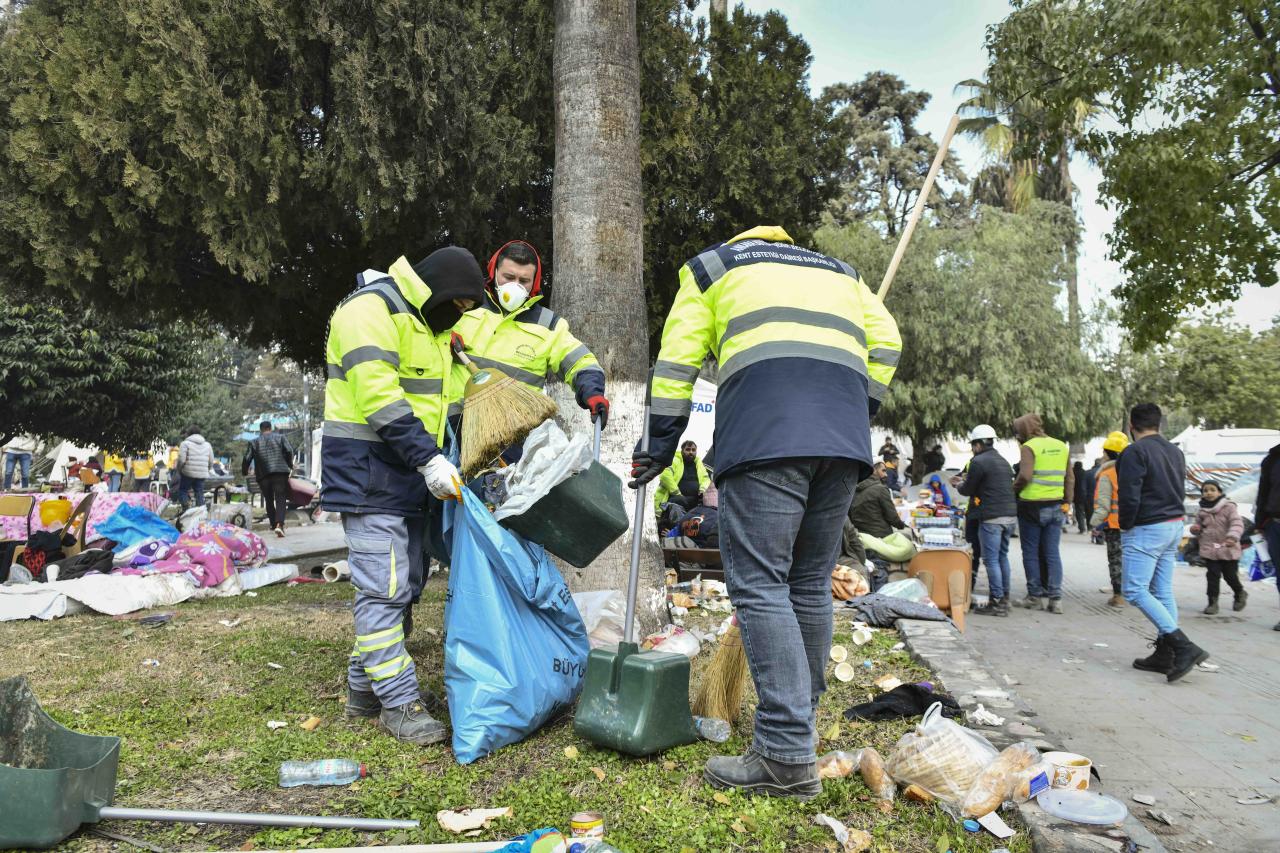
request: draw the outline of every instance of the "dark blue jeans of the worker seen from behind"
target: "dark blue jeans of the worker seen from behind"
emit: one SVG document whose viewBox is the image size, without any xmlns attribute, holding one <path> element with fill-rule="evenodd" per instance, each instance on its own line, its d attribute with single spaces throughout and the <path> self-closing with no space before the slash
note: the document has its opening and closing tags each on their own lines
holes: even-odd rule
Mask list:
<svg viewBox="0 0 1280 853">
<path fill-rule="evenodd" d="M 744 466 L 719 482 L 724 581 L 760 702 L 751 748 L 806 765 L 814 713 L 827 689 L 831 570 L 860 465 L 782 459 Z"/>
</svg>

